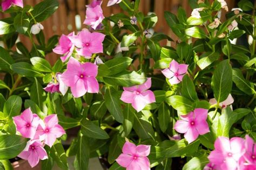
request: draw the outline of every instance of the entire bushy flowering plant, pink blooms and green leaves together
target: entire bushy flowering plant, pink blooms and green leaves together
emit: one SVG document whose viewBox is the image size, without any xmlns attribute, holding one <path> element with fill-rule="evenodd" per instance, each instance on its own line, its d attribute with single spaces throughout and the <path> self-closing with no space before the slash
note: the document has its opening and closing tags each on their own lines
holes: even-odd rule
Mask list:
<svg viewBox="0 0 256 170">
<path fill-rule="evenodd" d="M 11 17 L 0 20 L 1 167 L 19 157 L 31 167 L 42 160 L 42 169 L 54 162 L 69 169 L 75 156 L 75 169 L 87 169 L 93 157 L 106 158 L 110 169 L 255 169 L 253 4 L 241 0 L 224 20 L 224 0 L 190 1 L 191 15 L 166 11 L 179 37 L 171 47 L 160 45 L 173 40 L 153 31 L 158 18 L 139 3 L 110 0 L 127 13 L 104 16 L 94 0 L 86 29 L 45 42 L 41 22 L 57 0 L 2 1 Z M 51 52 L 60 55 L 53 66 L 44 59 Z"/>
</svg>

